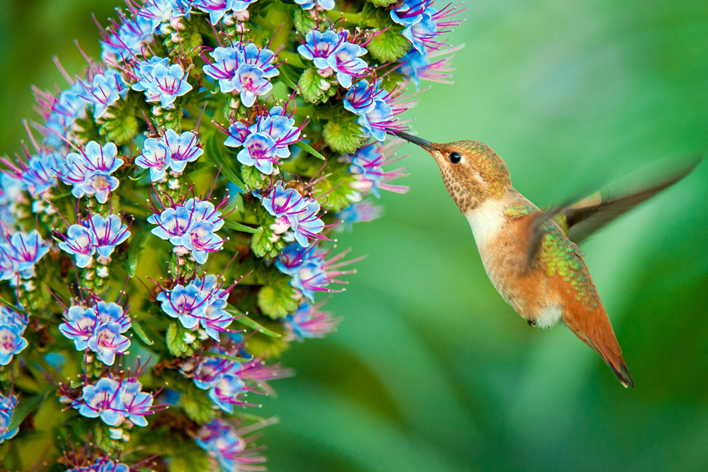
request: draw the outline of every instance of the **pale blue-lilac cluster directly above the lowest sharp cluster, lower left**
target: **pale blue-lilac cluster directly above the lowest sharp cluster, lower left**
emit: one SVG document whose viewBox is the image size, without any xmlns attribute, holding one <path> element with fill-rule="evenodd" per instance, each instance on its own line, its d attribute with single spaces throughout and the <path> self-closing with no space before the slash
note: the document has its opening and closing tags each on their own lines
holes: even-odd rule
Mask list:
<svg viewBox="0 0 708 472">
<path fill-rule="evenodd" d="M 98 359 L 112 366 L 115 354 L 130 347 L 130 339 L 122 333 L 130 329 L 130 318 L 117 303 L 98 301 L 91 307 L 74 305 L 64 313 L 59 325 L 62 335 L 74 341 L 77 351 L 91 349 Z"/>
</svg>

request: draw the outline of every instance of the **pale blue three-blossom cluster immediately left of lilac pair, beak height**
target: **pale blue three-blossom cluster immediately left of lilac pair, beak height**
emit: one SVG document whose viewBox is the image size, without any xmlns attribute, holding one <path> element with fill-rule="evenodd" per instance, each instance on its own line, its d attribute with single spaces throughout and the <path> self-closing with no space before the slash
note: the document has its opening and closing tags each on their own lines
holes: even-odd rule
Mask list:
<svg viewBox="0 0 708 472">
<path fill-rule="evenodd" d="M 72 194 L 76 198 L 93 195 L 98 203 L 105 203 L 110 192 L 120 184 L 111 175 L 123 164 L 123 159 L 116 157 L 117 154 L 118 148 L 113 142 L 107 142 L 101 147 L 98 142 L 89 141 L 80 154 L 67 154 L 67 166 L 59 179 L 73 186 Z"/>
</svg>

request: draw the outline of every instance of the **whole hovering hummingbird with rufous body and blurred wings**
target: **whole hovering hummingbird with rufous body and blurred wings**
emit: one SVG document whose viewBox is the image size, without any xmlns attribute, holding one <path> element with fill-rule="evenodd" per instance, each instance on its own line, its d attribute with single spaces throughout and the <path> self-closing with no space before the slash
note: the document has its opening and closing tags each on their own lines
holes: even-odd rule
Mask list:
<svg viewBox="0 0 708 472">
<path fill-rule="evenodd" d="M 504 300 L 531 326 L 553 327 L 562 320 L 602 356 L 625 388 L 634 388 L 578 244 L 683 179 L 702 157 L 632 193 L 603 196 L 598 191 L 541 210 L 513 188 L 505 162 L 489 146 L 394 134 L 435 158 L 447 192 L 472 227 L 484 270 Z"/>
</svg>

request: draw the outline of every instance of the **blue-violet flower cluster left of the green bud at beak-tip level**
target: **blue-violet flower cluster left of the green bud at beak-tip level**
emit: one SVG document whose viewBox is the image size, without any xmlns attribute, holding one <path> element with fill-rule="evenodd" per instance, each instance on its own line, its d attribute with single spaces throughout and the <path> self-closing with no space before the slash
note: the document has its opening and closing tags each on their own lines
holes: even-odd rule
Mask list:
<svg viewBox="0 0 708 472">
<path fill-rule="evenodd" d="M 288 146 L 299 141 L 300 130 L 302 125 L 295 126 L 295 120 L 282 106 L 274 106 L 259 115 L 256 123 L 250 126 L 240 121 L 232 123 L 224 145 L 243 147 L 236 159 L 270 175 L 278 172 L 276 164 L 280 159 L 290 157 Z"/>
</svg>

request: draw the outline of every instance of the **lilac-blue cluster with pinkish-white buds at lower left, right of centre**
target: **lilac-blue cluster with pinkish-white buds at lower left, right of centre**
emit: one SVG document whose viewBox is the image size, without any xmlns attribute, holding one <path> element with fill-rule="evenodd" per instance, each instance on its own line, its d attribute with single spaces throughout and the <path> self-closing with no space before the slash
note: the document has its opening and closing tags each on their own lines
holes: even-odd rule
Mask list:
<svg viewBox="0 0 708 472">
<path fill-rule="evenodd" d="M 275 224 L 271 225 L 271 229 L 275 234 L 285 233 L 290 237 L 286 237 L 286 241 L 292 241 L 293 238 L 302 247 L 309 245 L 309 238 L 316 238 L 317 233 L 324 230 L 324 223 L 319 219 L 319 203 L 305 198 L 295 189 L 283 189 L 282 185 L 278 184 L 268 193 L 267 196 L 261 196 L 256 193 L 258 198 L 261 198 L 263 208 L 271 215 L 275 216 Z"/>
</svg>

